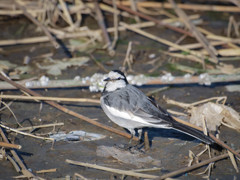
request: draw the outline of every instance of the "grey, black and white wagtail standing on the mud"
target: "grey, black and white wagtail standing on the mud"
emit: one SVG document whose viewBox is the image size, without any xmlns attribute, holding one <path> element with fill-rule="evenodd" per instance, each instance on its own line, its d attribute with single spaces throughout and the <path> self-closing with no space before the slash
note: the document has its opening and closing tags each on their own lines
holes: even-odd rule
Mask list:
<svg viewBox="0 0 240 180">
<path fill-rule="evenodd" d="M 214 141 L 203 132 L 175 121 L 165 110 L 155 104 L 136 87 L 130 85 L 119 70 L 110 71 L 101 97 L 101 106 L 106 115 L 116 124 L 135 135 L 138 129 L 141 138 L 142 128 L 175 129 L 193 136 L 206 144 Z"/>
</svg>

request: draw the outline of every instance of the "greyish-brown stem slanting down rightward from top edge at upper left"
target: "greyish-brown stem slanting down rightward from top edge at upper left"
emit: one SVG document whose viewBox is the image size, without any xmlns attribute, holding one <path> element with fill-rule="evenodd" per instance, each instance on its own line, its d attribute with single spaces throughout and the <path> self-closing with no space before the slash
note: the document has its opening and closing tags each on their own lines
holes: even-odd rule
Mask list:
<svg viewBox="0 0 240 180">
<path fill-rule="evenodd" d="M 43 32 L 47 35 L 47 37 L 49 38 L 50 42 L 54 45 L 54 47 L 57 49 L 60 47 L 59 43 L 55 40 L 55 38 L 51 35 L 51 33 L 49 33 L 48 29 L 42 25 L 39 21 L 37 21 L 28 11 L 27 9 L 20 5 L 16 0 L 14 0 L 14 4 L 23 11 L 24 15 L 27 16 L 34 24 L 36 24 L 37 26 L 39 26 Z"/>
</svg>

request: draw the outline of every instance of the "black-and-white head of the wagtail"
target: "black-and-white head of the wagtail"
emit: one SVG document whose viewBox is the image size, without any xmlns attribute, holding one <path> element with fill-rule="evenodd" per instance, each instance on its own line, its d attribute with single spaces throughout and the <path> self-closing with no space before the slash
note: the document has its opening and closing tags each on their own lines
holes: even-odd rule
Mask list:
<svg viewBox="0 0 240 180">
<path fill-rule="evenodd" d="M 128 84 L 126 76 L 119 70 L 110 71 L 104 81 L 107 82 L 104 87 L 104 92 L 112 92 L 124 88 Z"/>
</svg>

